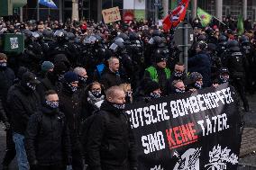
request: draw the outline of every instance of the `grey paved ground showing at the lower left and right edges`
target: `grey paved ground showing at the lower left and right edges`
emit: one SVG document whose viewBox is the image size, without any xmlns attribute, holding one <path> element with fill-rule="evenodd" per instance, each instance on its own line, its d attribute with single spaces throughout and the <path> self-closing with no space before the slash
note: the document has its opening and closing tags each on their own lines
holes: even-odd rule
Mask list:
<svg viewBox="0 0 256 170">
<path fill-rule="evenodd" d="M 241 158 L 238 170 L 256 170 L 256 94 L 248 96 L 251 111 L 244 115 L 245 129 L 242 134 Z M 5 131 L 0 124 L 0 160 L 5 154 Z M 0 166 L 0 170 L 2 167 Z M 16 160 L 10 170 L 17 170 Z"/>
</svg>

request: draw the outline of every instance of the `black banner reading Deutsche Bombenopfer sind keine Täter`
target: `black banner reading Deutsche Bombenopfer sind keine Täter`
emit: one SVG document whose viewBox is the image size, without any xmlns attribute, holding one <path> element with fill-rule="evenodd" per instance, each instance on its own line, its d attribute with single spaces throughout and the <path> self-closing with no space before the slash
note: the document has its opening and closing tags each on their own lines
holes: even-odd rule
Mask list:
<svg viewBox="0 0 256 170">
<path fill-rule="evenodd" d="M 140 170 L 234 170 L 241 145 L 239 102 L 232 86 L 131 105 L 126 112 Z"/>
</svg>

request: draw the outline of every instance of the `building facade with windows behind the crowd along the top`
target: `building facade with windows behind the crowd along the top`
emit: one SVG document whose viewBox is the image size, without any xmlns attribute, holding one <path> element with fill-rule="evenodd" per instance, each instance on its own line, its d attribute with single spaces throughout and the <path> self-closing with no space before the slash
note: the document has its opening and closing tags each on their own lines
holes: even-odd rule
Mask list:
<svg viewBox="0 0 256 170">
<path fill-rule="evenodd" d="M 22 18 L 26 20 L 47 20 L 50 15 L 52 20 L 65 22 L 71 19 L 72 3 L 78 1 L 79 18 L 91 19 L 94 21 L 102 21 L 102 9 L 118 6 L 121 15 L 126 10 L 134 10 L 134 13 L 140 13 L 144 19 L 153 19 L 157 13 L 156 2 L 168 5 L 169 10 L 176 6 L 174 0 L 53 0 L 57 4 L 57 9 L 50 9 L 41 4 L 37 4 L 35 0 L 28 0 L 27 4 L 21 10 Z M 256 20 L 256 0 L 190 0 L 197 1 L 197 6 L 205 9 L 207 12 L 215 16 L 233 16 L 237 17 L 239 13 L 243 13 L 244 18 Z M 128 3 L 127 3 L 128 2 Z M 246 7 L 244 6 L 246 5 Z M 138 7 L 139 6 L 139 7 Z M 219 7 L 216 7 L 219 6 Z M 243 6 L 243 7 L 242 7 Z M 194 8 L 195 9 L 195 8 Z M 222 9 L 222 10 L 219 10 Z M 245 12 L 246 10 L 246 12 Z"/>
</svg>

